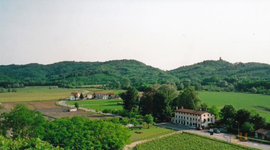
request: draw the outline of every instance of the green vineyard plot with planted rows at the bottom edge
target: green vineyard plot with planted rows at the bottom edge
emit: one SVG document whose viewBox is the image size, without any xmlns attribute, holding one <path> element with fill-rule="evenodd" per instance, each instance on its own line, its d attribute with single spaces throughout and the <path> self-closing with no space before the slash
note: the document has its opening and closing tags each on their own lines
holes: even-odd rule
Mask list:
<svg viewBox="0 0 270 150">
<path fill-rule="evenodd" d="M 136 145 L 135 150 L 256 150 L 192 133 L 178 133 Z"/>
</svg>

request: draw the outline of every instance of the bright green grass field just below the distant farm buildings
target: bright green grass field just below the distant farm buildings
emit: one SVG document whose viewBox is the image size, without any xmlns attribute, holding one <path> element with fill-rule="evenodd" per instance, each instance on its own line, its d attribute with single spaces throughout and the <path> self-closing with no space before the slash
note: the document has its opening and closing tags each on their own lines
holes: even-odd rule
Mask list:
<svg viewBox="0 0 270 150">
<path fill-rule="evenodd" d="M 123 106 L 117 105 L 119 102 L 123 102 L 123 100 L 119 99 L 111 99 L 111 100 L 87 100 L 87 101 L 67 101 L 68 105 L 74 105 L 78 103 L 82 107 L 90 108 L 94 110 L 104 110 L 104 109 L 112 109 L 112 110 L 122 110 Z"/>
</svg>

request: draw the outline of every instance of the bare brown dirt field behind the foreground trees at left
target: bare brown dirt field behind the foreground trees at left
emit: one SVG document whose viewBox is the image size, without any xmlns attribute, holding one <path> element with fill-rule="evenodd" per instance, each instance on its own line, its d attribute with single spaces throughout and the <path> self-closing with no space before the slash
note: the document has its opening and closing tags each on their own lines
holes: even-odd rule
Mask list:
<svg viewBox="0 0 270 150">
<path fill-rule="evenodd" d="M 73 116 L 84 116 L 91 119 L 101 119 L 109 118 L 108 116 L 101 115 L 94 112 L 84 112 L 82 110 L 76 112 L 69 112 L 68 108 L 59 107 L 55 105 L 55 101 L 46 101 L 46 102 L 24 102 L 24 103 L 3 103 L 2 106 L 5 109 L 0 109 L 0 113 L 9 112 L 17 104 L 24 104 L 30 109 L 38 110 L 45 116 L 49 118 L 61 118 L 61 117 L 73 117 Z"/>
</svg>

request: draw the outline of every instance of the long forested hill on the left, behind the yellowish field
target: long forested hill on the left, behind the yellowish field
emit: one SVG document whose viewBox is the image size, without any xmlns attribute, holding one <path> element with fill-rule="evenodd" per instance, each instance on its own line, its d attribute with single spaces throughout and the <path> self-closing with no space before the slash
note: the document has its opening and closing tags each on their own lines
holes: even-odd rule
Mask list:
<svg viewBox="0 0 270 150">
<path fill-rule="evenodd" d="M 91 84 L 177 83 L 166 72 L 135 60 L 59 62 L 54 64 L 0 65 L 0 86 L 80 86 Z"/>
</svg>

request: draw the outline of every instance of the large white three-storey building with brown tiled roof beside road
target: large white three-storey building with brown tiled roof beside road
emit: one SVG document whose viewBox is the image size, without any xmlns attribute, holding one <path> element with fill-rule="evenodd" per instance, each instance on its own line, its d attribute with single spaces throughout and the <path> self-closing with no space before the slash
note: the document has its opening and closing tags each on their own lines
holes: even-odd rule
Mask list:
<svg viewBox="0 0 270 150">
<path fill-rule="evenodd" d="M 196 126 L 197 128 L 208 128 L 208 124 L 215 123 L 215 115 L 206 111 L 181 109 L 174 110 L 174 117 L 171 122 L 186 126 Z"/>
</svg>

